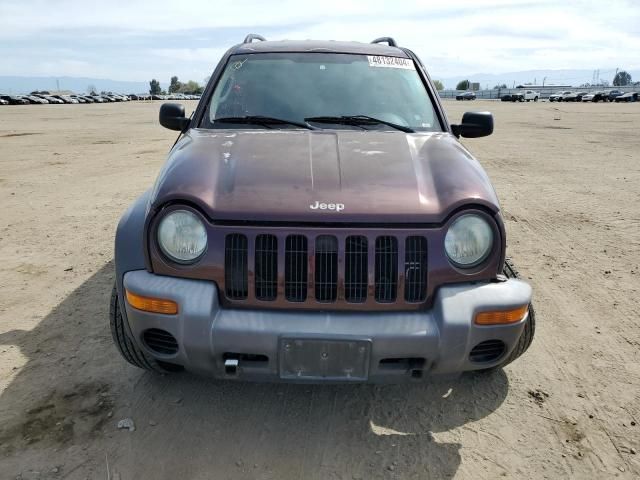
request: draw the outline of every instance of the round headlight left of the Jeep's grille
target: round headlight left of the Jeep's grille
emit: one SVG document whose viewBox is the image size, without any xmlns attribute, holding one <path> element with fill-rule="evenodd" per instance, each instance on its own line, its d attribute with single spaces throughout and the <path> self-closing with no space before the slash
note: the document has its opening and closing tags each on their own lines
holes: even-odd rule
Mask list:
<svg viewBox="0 0 640 480">
<path fill-rule="evenodd" d="M 194 213 L 174 210 L 160 220 L 158 245 L 170 259 L 189 263 L 207 248 L 207 230 Z"/>
</svg>

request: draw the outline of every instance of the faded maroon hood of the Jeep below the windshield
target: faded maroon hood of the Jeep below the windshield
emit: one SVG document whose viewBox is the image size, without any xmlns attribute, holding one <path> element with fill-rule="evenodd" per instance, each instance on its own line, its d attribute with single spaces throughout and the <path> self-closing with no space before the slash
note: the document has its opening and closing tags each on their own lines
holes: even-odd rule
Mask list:
<svg viewBox="0 0 640 480">
<path fill-rule="evenodd" d="M 498 211 L 486 173 L 448 133 L 192 129 L 151 196 L 211 220 L 440 223 L 464 204 Z M 311 208 L 341 204 L 344 209 Z M 338 211 L 340 210 L 340 211 Z"/>
</svg>

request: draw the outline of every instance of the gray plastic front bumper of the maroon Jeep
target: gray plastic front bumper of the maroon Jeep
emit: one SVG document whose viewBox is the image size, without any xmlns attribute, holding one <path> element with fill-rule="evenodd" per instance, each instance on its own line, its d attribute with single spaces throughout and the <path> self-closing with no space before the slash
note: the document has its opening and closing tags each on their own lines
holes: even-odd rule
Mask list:
<svg viewBox="0 0 640 480">
<path fill-rule="evenodd" d="M 531 300 L 529 285 L 515 279 L 443 286 L 429 310 L 381 313 L 226 309 L 213 282 L 145 270 L 127 272 L 124 287 L 179 305 L 177 315 L 148 313 L 121 292 L 134 341 L 149 355 L 196 373 L 252 381 L 401 382 L 490 368 L 511 352 L 526 318 L 478 326 L 475 314 Z M 149 332 L 158 331 L 175 339 L 175 351 L 150 340 Z M 497 356 L 474 356 L 482 342 L 480 353 L 497 345 Z"/>
</svg>

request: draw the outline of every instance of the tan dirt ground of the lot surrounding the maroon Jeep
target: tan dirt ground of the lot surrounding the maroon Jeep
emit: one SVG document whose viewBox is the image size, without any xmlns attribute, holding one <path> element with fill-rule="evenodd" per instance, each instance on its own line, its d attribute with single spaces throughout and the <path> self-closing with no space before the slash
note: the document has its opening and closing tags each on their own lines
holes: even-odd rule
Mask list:
<svg viewBox="0 0 640 480">
<path fill-rule="evenodd" d="M 158 377 L 119 357 L 113 238 L 175 138 L 158 108 L 0 107 L 0 479 L 640 476 L 640 104 L 446 103 L 495 114 L 465 144 L 539 325 L 503 372 L 411 386 Z"/>
</svg>

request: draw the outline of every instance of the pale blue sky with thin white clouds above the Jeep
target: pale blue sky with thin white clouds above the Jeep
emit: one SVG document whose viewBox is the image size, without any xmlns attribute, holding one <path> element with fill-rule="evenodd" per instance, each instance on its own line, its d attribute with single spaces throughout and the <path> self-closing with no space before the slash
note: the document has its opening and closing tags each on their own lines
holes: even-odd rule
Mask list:
<svg viewBox="0 0 640 480">
<path fill-rule="evenodd" d="M 247 33 L 392 36 L 434 78 L 640 69 L 639 0 L 0 0 L 0 19 L 0 75 L 202 82 Z"/>
</svg>

